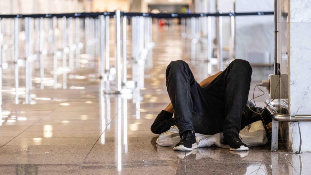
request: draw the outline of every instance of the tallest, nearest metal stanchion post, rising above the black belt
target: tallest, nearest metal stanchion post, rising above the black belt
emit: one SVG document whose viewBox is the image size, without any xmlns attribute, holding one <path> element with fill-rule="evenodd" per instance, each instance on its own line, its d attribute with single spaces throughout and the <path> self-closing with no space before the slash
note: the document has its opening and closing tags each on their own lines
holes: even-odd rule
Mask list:
<svg viewBox="0 0 311 175">
<path fill-rule="evenodd" d="M 121 92 L 121 30 L 120 30 L 120 10 L 115 11 L 115 68 L 116 68 L 116 85 L 117 91 Z"/>
</svg>

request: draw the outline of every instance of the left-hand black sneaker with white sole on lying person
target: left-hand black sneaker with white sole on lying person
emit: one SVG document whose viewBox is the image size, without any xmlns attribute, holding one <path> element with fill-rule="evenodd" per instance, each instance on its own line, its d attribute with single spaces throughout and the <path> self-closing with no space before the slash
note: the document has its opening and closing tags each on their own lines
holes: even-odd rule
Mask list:
<svg viewBox="0 0 311 175">
<path fill-rule="evenodd" d="M 180 142 L 174 147 L 174 151 L 192 151 L 197 148 L 195 135 L 191 130 L 183 132 L 180 136 Z"/>
</svg>

